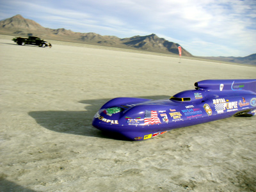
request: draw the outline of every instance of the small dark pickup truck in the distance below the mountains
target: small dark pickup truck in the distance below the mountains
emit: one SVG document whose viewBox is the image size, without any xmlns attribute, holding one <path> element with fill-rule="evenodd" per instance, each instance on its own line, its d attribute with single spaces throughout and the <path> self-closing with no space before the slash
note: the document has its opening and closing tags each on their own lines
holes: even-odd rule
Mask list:
<svg viewBox="0 0 256 192">
<path fill-rule="evenodd" d="M 15 37 L 12 39 L 18 45 L 37 45 L 39 47 L 47 47 L 48 43 L 44 40 L 36 37 L 36 36 L 29 36 L 28 38 L 23 37 Z"/>
</svg>

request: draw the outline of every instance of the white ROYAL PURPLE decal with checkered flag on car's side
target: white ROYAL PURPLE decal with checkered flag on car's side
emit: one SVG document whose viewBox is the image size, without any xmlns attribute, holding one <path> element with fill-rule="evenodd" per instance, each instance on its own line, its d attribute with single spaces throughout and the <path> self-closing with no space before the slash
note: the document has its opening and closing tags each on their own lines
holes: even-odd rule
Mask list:
<svg viewBox="0 0 256 192">
<path fill-rule="evenodd" d="M 225 99 L 212 99 L 212 102 L 218 114 L 224 113 L 226 109 L 227 112 L 237 111 L 237 101 L 229 102 L 229 100 L 226 101 Z"/>
</svg>

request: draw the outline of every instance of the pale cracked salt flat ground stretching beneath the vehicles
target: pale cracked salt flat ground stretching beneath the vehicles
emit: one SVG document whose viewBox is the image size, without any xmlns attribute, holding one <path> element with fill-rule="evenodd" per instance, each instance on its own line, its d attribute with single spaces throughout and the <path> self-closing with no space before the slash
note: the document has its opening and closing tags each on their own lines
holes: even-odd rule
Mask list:
<svg viewBox="0 0 256 192">
<path fill-rule="evenodd" d="M 0 36 L 0 191 L 256 191 L 256 118 L 123 141 L 92 127 L 115 97 L 165 99 L 256 68 Z"/>
</svg>

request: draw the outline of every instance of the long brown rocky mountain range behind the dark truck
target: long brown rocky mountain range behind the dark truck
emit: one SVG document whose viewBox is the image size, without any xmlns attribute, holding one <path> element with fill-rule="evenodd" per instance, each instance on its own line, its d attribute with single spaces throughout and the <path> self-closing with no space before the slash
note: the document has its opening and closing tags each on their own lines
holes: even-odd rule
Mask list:
<svg viewBox="0 0 256 192">
<path fill-rule="evenodd" d="M 118 38 L 116 36 L 102 36 L 97 33 L 77 33 L 64 28 L 49 29 L 21 15 L 0 21 L 0 33 L 4 35 L 38 36 L 49 40 L 61 40 L 84 44 L 138 49 L 143 51 L 161 52 L 166 54 L 179 54 L 179 44 L 168 42 L 157 35 L 132 36 L 131 38 Z M 182 47 L 182 56 L 193 56 Z"/>
</svg>

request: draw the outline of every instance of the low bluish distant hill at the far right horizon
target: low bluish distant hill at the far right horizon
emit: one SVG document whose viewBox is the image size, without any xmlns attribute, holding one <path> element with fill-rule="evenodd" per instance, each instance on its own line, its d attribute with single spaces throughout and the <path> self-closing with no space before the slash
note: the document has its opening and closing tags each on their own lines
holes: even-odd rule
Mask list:
<svg viewBox="0 0 256 192">
<path fill-rule="evenodd" d="M 249 65 L 256 65 L 256 54 L 250 54 L 245 57 L 200 57 L 207 60 L 218 60 L 218 61 L 226 61 L 232 63 L 242 63 Z"/>
</svg>

